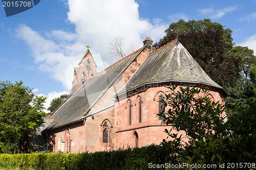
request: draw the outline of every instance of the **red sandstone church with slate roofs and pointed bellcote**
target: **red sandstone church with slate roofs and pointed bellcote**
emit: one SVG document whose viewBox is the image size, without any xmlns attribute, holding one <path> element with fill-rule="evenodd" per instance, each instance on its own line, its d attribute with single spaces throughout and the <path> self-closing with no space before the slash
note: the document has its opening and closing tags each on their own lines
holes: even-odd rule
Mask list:
<svg viewBox="0 0 256 170">
<path fill-rule="evenodd" d="M 174 40 L 155 50 L 153 41 L 101 72 L 90 50 L 74 69 L 72 94 L 43 130 L 50 152 L 79 153 L 159 144 L 166 139 L 159 102 L 166 86 L 209 86 L 224 104 L 225 90 L 212 81 L 183 45 Z M 169 138 L 168 138 L 169 139 Z"/>
</svg>

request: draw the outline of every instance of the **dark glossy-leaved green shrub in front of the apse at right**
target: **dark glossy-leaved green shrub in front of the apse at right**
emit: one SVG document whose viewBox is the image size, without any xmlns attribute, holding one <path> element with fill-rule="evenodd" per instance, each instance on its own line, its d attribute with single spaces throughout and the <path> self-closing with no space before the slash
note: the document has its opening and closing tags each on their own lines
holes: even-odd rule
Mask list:
<svg viewBox="0 0 256 170">
<path fill-rule="evenodd" d="M 163 124 L 171 126 L 165 130 L 168 136 L 185 150 L 185 156 L 178 157 L 180 162 L 255 162 L 256 102 L 236 105 L 236 111 L 224 116 L 224 106 L 207 97 L 207 88 L 168 88 L 171 92 L 165 95 L 164 107 L 171 109 L 158 115 L 164 117 Z M 178 136 L 181 131 L 186 136 Z"/>
</svg>

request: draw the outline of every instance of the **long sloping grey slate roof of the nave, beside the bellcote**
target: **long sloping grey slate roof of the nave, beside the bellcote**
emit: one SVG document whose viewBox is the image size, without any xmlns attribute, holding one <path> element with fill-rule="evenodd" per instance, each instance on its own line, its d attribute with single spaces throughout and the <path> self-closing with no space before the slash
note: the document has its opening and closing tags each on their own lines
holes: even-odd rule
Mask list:
<svg viewBox="0 0 256 170">
<path fill-rule="evenodd" d="M 93 107 L 93 105 L 117 80 L 122 72 L 143 51 L 146 45 L 99 72 L 97 75 L 84 83 L 52 114 L 54 120 L 44 131 L 81 120 L 84 115 L 88 114 L 91 109 L 90 107 Z"/>
</svg>

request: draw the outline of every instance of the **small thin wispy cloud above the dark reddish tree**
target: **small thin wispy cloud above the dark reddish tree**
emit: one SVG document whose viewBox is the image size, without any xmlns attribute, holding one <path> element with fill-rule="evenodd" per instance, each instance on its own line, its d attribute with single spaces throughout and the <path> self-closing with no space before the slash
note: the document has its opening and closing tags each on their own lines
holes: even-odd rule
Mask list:
<svg viewBox="0 0 256 170">
<path fill-rule="evenodd" d="M 226 13 L 231 13 L 234 10 L 237 10 L 237 6 L 229 6 L 223 9 L 214 9 L 214 7 L 211 8 L 205 8 L 205 9 L 199 9 L 201 15 L 206 15 L 211 19 L 219 19 L 222 18 Z"/>
</svg>

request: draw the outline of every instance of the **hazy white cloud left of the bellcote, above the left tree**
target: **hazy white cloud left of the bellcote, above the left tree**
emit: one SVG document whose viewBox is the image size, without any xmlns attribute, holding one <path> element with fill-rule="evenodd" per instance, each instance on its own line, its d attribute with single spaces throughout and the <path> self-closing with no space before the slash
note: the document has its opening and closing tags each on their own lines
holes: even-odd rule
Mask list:
<svg viewBox="0 0 256 170">
<path fill-rule="evenodd" d="M 66 41 L 55 43 L 53 40 L 45 39 L 25 25 L 20 25 L 16 29 L 16 33 L 19 38 L 25 40 L 30 46 L 38 69 L 49 72 L 52 79 L 62 82 L 66 89 L 71 89 L 72 78 L 67 83 L 65 72 L 71 63 L 83 56 L 83 45 Z M 75 47 L 72 48 L 73 46 Z M 70 72 L 70 75 L 73 75 L 73 72 Z"/>
</svg>

